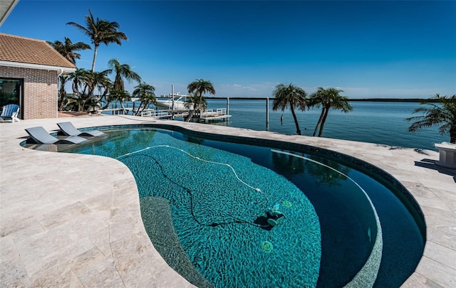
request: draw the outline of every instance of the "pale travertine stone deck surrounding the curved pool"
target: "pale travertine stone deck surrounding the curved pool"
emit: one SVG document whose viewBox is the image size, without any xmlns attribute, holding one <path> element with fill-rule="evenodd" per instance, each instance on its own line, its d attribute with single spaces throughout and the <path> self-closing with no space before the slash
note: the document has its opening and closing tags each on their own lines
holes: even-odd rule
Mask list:
<svg viewBox="0 0 456 288">
<path fill-rule="evenodd" d="M 403 287 L 456 287 L 456 171 L 435 166 L 437 151 L 120 115 L 0 123 L 0 287 L 193 287 L 147 237 L 138 188 L 124 164 L 19 146 L 25 128 L 55 132 L 57 122 L 68 120 L 78 128 L 173 124 L 320 146 L 368 161 L 403 183 L 425 214 L 425 252 Z"/>
</svg>

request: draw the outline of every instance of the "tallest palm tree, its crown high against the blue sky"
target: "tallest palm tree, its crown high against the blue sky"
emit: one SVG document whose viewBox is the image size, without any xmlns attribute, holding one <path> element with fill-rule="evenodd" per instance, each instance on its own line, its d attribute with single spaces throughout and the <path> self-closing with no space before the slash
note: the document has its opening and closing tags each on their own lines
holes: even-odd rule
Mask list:
<svg viewBox="0 0 456 288">
<path fill-rule="evenodd" d="M 98 46 L 100 46 L 101 43 L 104 43 L 106 46 L 110 43 L 122 45 L 122 40 L 128 41 L 128 38 L 125 36 L 125 33 L 118 31 L 120 26 L 117 22 L 110 22 L 104 19 L 100 20 L 98 17 L 95 21 L 90 9 L 88 10 L 88 14 L 89 15 L 86 15 L 86 27 L 75 22 L 68 22 L 66 24 L 75 26 L 90 37 L 90 41 L 94 47 L 92 62 L 93 72 L 95 71 L 95 60 L 97 58 Z"/>
</svg>

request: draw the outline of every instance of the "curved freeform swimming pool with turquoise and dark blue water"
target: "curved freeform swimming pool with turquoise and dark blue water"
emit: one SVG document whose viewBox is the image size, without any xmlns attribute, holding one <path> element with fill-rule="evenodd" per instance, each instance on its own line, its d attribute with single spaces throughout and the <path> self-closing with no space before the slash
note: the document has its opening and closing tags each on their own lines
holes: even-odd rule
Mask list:
<svg viewBox="0 0 456 288">
<path fill-rule="evenodd" d="M 321 149 L 138 127 L 109 133 L 73 151 L 129 166 L 152 242 L 187 279 L 197 270 L 202 276 L 189 280 L 200 287 L 341 287 L 359 271 L 374 286 L 394 287 L 423 254 L 420 227 L 398 197 L 346 159 L 317 156 Z M 279 225 L 254 225 L 276 204 L 285 215 Z"/>
</svg>

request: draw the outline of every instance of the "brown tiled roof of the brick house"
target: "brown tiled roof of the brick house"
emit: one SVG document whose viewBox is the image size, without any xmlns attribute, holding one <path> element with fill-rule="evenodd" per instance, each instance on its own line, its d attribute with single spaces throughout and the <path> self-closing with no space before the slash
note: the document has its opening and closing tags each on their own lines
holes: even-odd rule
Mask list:
<svg viewBox="0 0 456 288">
<path fill-rule="evenodd" d="M 76 68 L 46 41 L 0 33 L 0 60 Z"/>
</svg>

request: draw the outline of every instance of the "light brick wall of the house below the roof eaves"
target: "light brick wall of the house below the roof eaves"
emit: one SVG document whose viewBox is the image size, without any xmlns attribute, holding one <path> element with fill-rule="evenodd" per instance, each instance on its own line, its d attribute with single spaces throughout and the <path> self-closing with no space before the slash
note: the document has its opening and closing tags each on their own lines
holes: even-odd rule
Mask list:
<svg viewBox="0 0 456 288">
<path fill-rule="evenodd" d="M 24 79 L 23 119 L 57 117 L 58 72 L 0 66 L 0 78 Z"/>
</svg>

